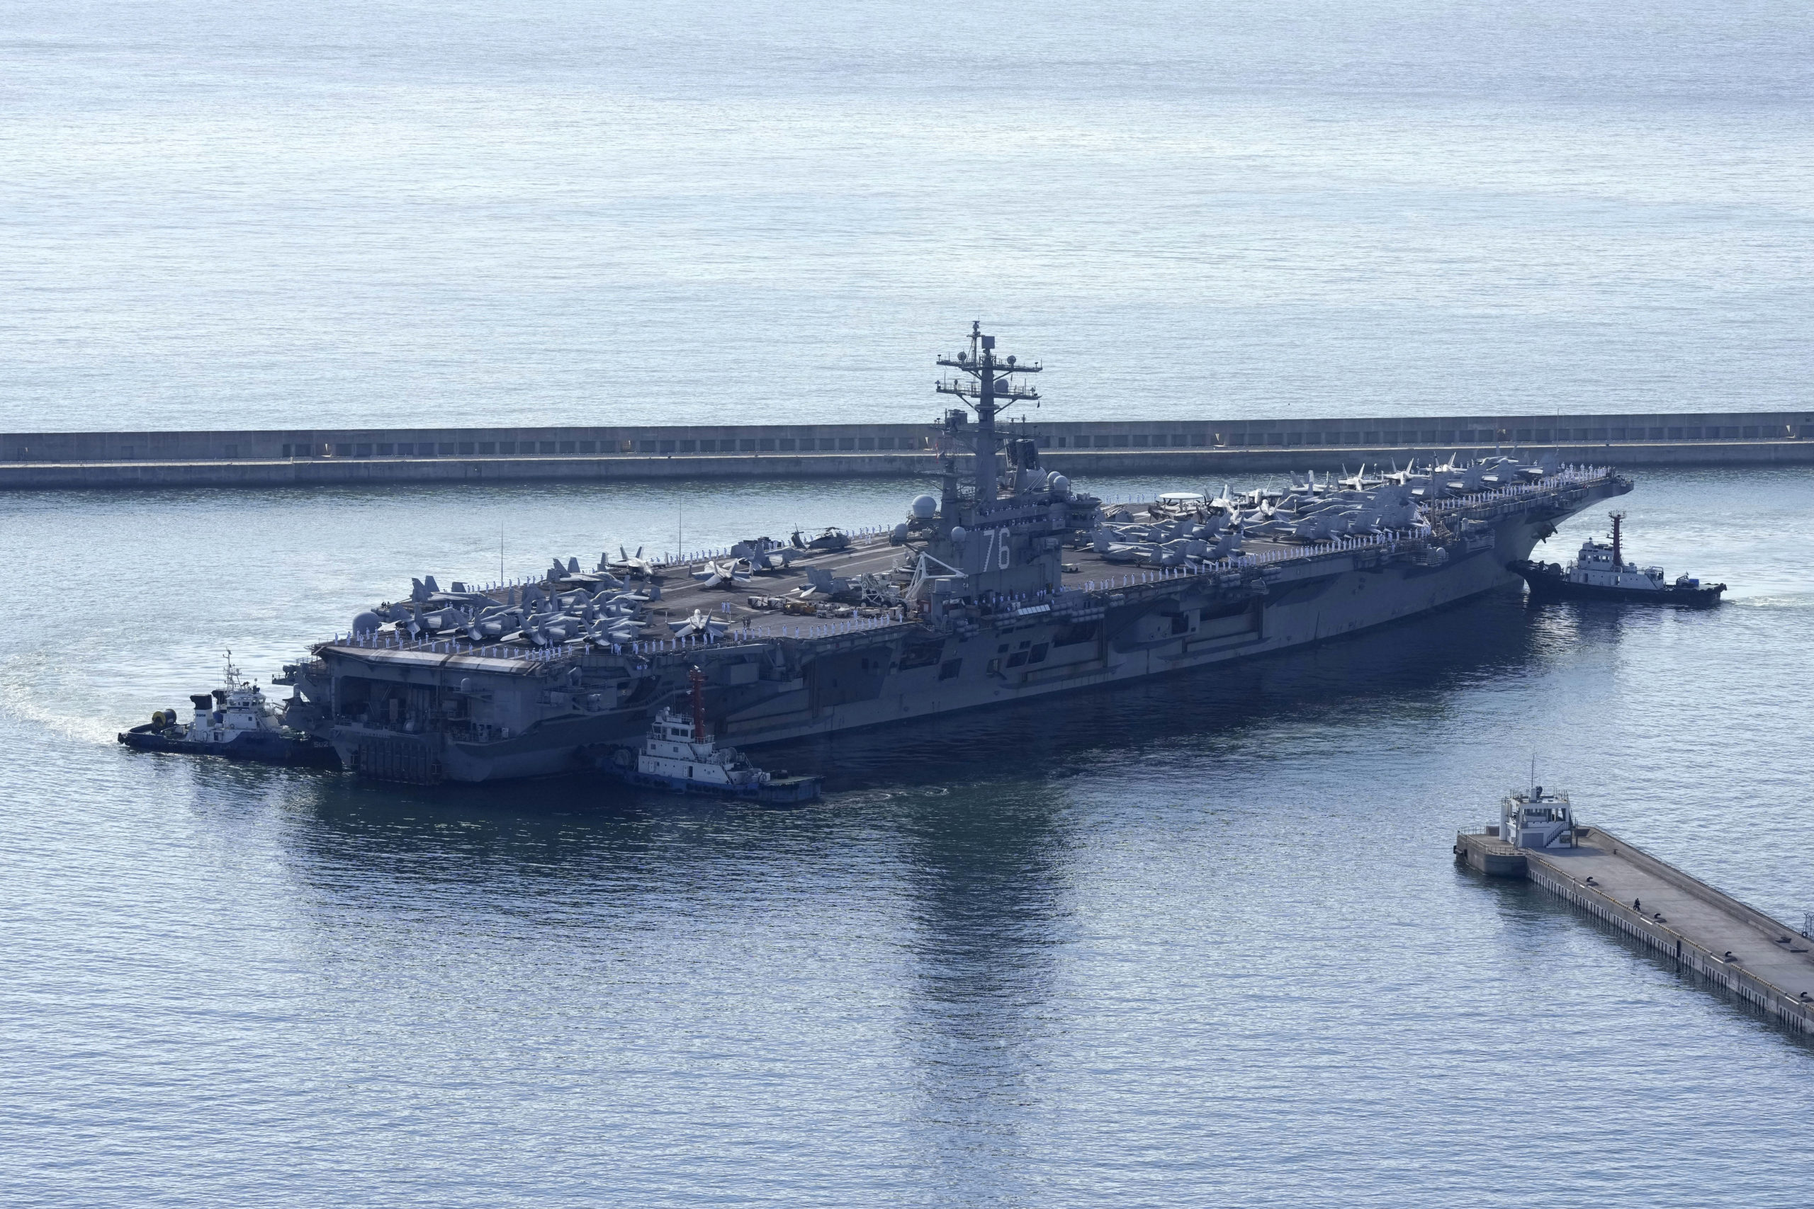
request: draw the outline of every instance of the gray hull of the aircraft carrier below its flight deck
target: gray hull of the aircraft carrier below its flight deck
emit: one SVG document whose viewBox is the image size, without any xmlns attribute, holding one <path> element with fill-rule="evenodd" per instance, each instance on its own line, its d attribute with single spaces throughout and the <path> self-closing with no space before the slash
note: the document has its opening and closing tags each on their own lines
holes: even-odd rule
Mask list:
<svg viewBox="0 0 1814 1209">
<path fill-rule="evenodd" d="M 711 725 L 740 747 L 882 727 L 954 711 L 1078 692 L 1409 622 L 1520 582 L 1555 522 L 1629 489 L 1607 475 L 1451 515 L 1429 540 L 1304 555 L 1181 575 L 1092 564 L 1103 578 L 1050 598 L 1050 611 L 981 614 L 956 625 L 887 625 L 816 638 L 726 642 L 620 658 L 506 660 L 323 643 L 296 669 L 328 701 L 314 732 L 348 769 L 401 781 L 492 781 L 588 767 L 635 743 L 698 665 Z M 1471 518 L 1464 518 L 1471 517 Z M 1074 555 L 1087 558 L 1087 555 Z M 1107 585 L 1105 585 L 1107 580 Z M 374 720 L 403 694 L 406 721 Z M 419 705 L 419 709 L 417 709 Z"/>
</svg>

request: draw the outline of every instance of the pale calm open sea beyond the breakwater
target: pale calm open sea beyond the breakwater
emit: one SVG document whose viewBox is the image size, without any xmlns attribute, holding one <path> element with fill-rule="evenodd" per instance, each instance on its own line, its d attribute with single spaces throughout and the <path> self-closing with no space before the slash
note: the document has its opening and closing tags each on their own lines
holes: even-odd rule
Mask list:
<svg viewBox="0 0 1814 1209">
<path fill-rule="evenodd" d="M 1783 0 L 0 4 L 0 430 L 1799 408 Z"/>
</svg>

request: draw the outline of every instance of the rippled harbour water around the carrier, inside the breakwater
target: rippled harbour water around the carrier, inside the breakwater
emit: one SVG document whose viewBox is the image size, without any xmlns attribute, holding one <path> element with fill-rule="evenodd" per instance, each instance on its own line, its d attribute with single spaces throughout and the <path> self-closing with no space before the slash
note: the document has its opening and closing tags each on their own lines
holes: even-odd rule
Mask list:
<svg viewBox="0 0 1814 1209">
<path fill-rule="evenodd" d="M 1536 752 L 1589 821 L 1814 908 L 1803 471 L 1625 498 L 1718 611 L 1511 593 L 769 750 L 813 808 L 112 743 L 218 647 L 267 676 L 499 538 L 519 571 L 682 495 L 713 542 L 912 488 L 0 500 L 5 1200 L 1805 1202 L 1807 1042 L 1449 856 Z"/>
</svg>

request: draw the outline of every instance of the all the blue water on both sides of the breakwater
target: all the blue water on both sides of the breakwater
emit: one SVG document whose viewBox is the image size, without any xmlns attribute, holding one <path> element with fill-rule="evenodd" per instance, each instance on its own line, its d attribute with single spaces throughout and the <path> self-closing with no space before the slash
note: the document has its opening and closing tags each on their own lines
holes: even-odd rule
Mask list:
<svg viewBox="0 0 1814 1209">
<path fill-rule="evenodd" d="M 978 315 L 1056 419 L 1792 408 L 1810 44 L 1743 2 L 4 5 L 0 428 L 916 419 Z M 4 497 L 0 1202 L 1809 1204 L 1814 1048 L 1449 854 L 1535 756 L 1814 910 L 1810 473 L 1636 479 L 1634 556 L 1720 609 L 1506 593 L 764 752 L 827 774 L 800 810 L 112 736 L 415 575 L 912 480 Z"/>
</svg>

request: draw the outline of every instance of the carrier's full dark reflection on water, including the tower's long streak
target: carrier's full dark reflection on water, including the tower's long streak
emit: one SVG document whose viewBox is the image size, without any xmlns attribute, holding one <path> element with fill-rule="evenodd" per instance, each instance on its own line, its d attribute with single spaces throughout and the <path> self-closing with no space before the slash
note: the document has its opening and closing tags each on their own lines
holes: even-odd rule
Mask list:
<svg viewBox="0 0 1814 1209">
<path fill-rule="evenodd" d="M 1252 736 L 1295 743 L 1306 721 L 1295 734 L 1317 745 L 1324 720 L 1440 720 L 1468 687 L 1567 649 L 1506 595 L 1224 669 L 769 749 L 829 774 L 827 801 L 800 810 L 588 778 L 426 790 L 281 774 L 272 798 L 305 932 L 348 979 L 417 973 L 464 1011 L 533 986 L 539 1011 L 640 1035 L 729 1011 L 776 953 L 796 979 L 834 970 L 903 1071 L 912 1162 L 961 1193 L 1027 1169 L 1043 1127 L 1029 1106 L 1070 1044 L 1079 861 L 1105 823 L 1074 783 L 1304 756 Z"/>
</svg>

